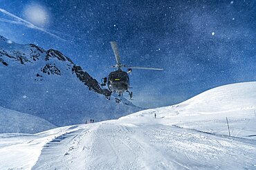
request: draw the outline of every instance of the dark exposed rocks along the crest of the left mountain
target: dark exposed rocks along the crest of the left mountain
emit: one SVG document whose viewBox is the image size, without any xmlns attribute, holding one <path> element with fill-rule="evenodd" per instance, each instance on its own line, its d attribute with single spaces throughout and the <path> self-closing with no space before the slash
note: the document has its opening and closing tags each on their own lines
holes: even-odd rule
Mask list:
<svg viewBox="0 0 256 170">
<path fill-rule="evenodd" d="M 2 36 L 0 38 L 2 41 L 8 41 Z M 100 87 L 98 81 L 96 79 L 93 79 L 93 77 L 91 77 L 89 73 L 86 73 L 86 71 L 82 70 L 81 66 L 75 65 L 70 58 L 66 57 L 58 50 L 44 50 L 43 48 L 36 46 L 35 44 L 28 44 L 26 45 L 25 49 L 5 50 L 3 48 L 0 48 L 0 63 L 3 64 L 3 66 L 8 66 L 10 62 L 15 62 L 23 65 L 33 64 L 37 62 L 40 58 L 44 60 L 44 66 L 42 66 L 41 69 L 38 70 L 35 81 L 42 81 L 44 74 L 62 75 L 62 68 L 59 68 L 60 66 L 57 66 L 57 64 L 55 63 L 57 61 L 67 62 L 66 70 L 71 70 L 73 74 L 75 73 L 77 78 L 80 79 L 80 81 L 84 83 L 84 85 L 88 86 L 90 91 L 93 90 L 96 93 L 105 95 L 106 97 L 110 95 L 110 92 L 107 89 L 103 90 Z M 57 59 L 57 61 L 53 61 L 53 59 Z M 9 62 L 7 62 L 8 60 Z"/>
</svg>

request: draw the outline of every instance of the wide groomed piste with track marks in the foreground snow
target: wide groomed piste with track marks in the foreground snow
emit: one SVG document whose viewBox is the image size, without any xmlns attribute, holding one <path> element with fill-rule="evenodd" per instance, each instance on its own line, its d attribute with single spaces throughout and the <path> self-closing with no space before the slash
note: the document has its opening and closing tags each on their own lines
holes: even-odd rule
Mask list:
<svg viewBox="0 0 256 170">
<path fill-rule="evenodd" d="M 45 144 L 33 169 L 255 169 L 254 158 L 255 140 L 102 122 Z"/>
</svg>

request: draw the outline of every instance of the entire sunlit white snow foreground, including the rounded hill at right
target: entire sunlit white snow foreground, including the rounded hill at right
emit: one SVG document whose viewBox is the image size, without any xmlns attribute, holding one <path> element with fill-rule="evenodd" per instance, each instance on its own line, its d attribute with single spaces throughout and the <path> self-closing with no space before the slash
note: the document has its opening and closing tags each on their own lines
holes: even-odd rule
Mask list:
<svg viewBox="0 0 256 170">
<path fill-rule="evenodd" d="M 0 169 L 256 169 L 255 110 L 247 82 L 119 120 L 3 133 Z"/>
</svg>

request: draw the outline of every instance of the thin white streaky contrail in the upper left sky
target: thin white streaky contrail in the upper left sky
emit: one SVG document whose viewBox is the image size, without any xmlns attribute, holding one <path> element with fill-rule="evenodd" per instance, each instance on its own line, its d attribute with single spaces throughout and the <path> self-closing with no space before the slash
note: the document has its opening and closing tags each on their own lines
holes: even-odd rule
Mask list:
<svg viewBox="0 0 256 170">
<path fill-rule="evenodd" d="M 66 39 L 63 39 L 51 32 L 49 32 L 48 30 L 41 28 L 39 26 L 35 26 L 33 23 L 30 23 L 29 21 L 26 21 L 25 19 L 22 19 L 21 17 L 18 17 L 17 15 L 13 15 L 12 13 L 8 12 L 7 10 L 3 10 L 2 8 L 0 8 L 0 12 L 2 12 L 5 15 L 8 15 L 10 17 L 12 17 L 15 20 L 10 20 L 10 19 L 3 19 L 0 18 L 0 21 L 6 22 L 6 23 L 13 23 L 13 24 L 17 24 L 17 25 L 21 25 L 21 26 L 26 26 L 28 28 L 32 28 L 35 30 L 40 30 L 42 32 L 45 32 L 48 35 L 51 35 L 52 37 L 55 37 L 57 39 L 60 39 L 62 41 L 66 41 Z"/>
</svg>

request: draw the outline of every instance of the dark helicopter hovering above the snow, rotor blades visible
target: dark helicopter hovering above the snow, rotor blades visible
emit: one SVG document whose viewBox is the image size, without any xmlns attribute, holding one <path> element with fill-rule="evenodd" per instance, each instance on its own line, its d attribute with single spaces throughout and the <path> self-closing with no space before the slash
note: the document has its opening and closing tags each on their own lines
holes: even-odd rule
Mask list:
<svg viewBox="0 0 256 170">
<path fill-rule="evenodd" d="M 110 41 L 110 44 L 111 44 L 113 53 L 116 57 L 116 65 L 111 66 L 111 68 L 117 68 L 117 70 L 109 73 L 108 77 L 102 78 L 101 86 L 107 85 L 107 87 L 109 88 L 109 91 L 110 91 L 109 100 L 110 100 L 111 93 L 118 93 L 118 96 L 122 96 L 123 93 L 125 92 L 129 93 L 130 99 L 132 99 L 132 92 L 128 91 L 128 89 L 131 88 L 129 86 L 130 82 L 129 82 L 129 75 L 128 75 L 128 73 L 131 73 L 131 69 L 163 70 L 163 68 L 147 68 L 147 67 L 123 65 L 120 62 L 120 55 L 119 55 L 118 45 L 116 44 L 116 41 Z M 122 67 L 127 68 L 127 72 L 123 71 Z"/>
</svg>

